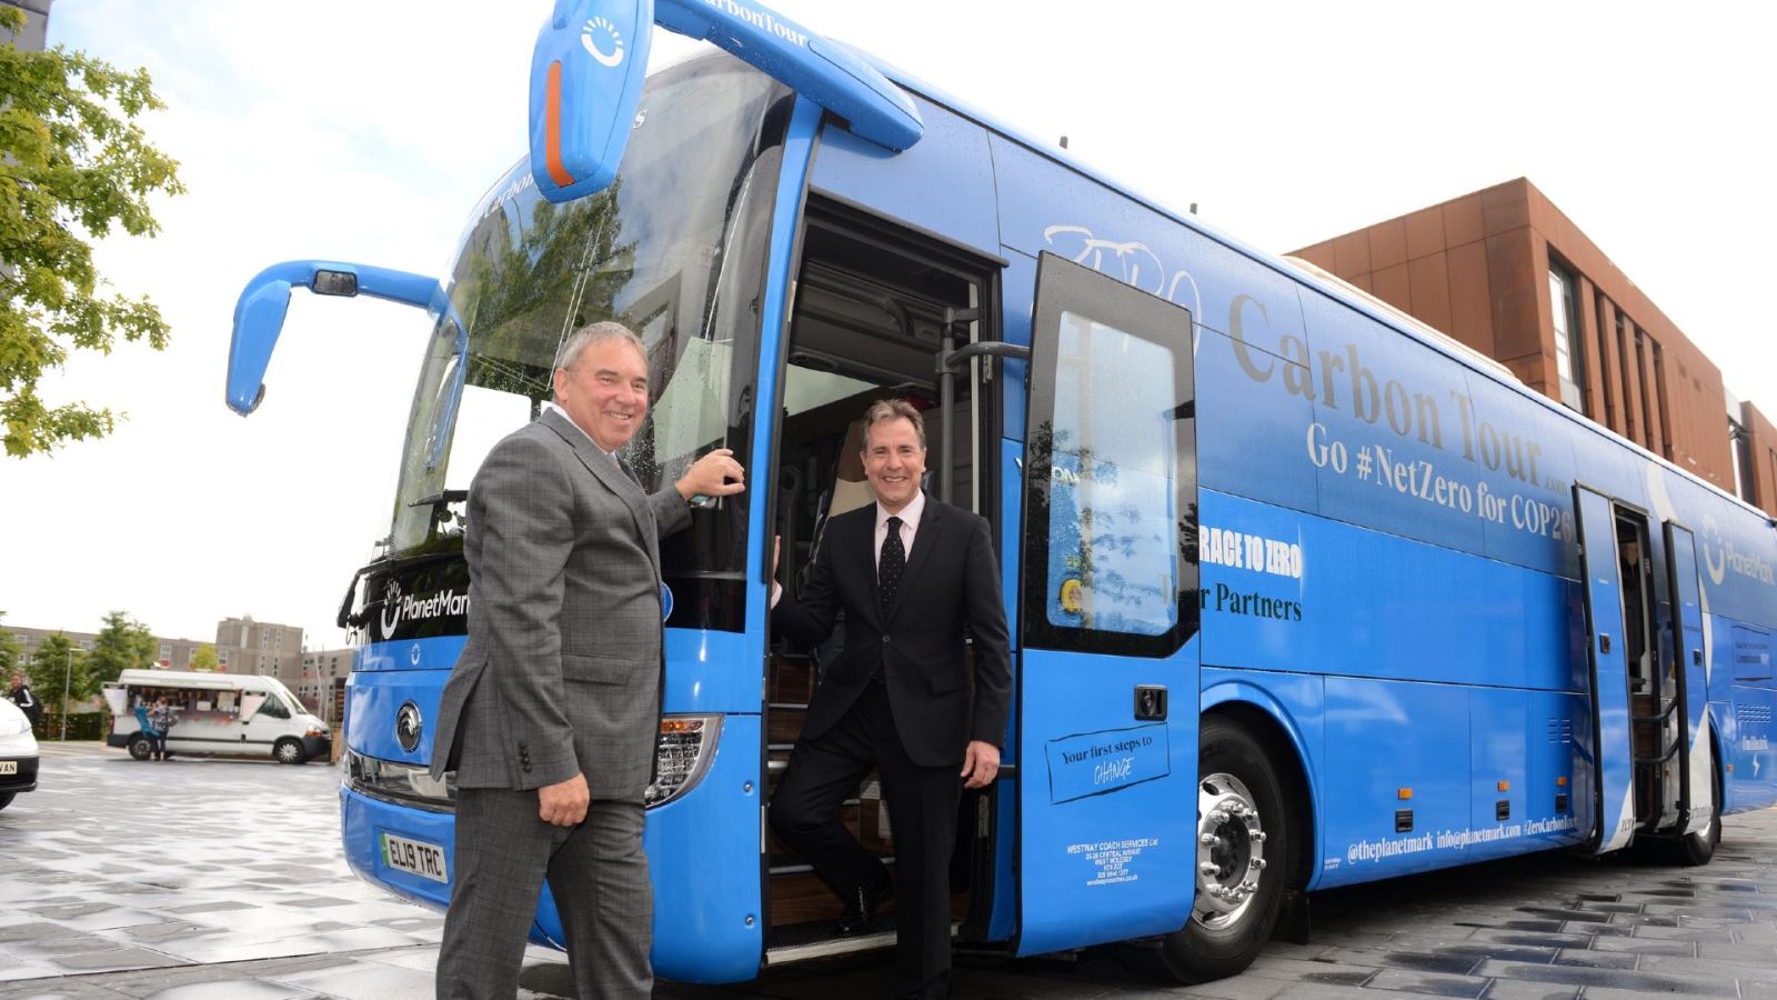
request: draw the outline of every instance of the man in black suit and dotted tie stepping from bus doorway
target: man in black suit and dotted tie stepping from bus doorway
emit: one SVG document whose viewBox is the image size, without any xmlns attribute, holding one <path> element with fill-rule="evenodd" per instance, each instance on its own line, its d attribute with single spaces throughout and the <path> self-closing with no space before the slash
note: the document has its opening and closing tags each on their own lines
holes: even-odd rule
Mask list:
<svg viewBox="0 0 1777 1000">
<path fill-rule="evenodd" d="M 771 827 L 846 900 L 841 932 L 862 931 L 892 883 L 835 811 L 878 769 L 896 831 L 901 995 L 944 996 L 958 785 L 986 788 L 1006 738 L 1006 609 L 988 521 L 919 488 L 919 411 L 885 400 L 864 423 L 864 473 L 876 504 L 826 523 L 801 600 L 782 598 L 771 612 L 773 626 L 801 646 L 823 642 L 846 612 L 844 648 L 821 669 L 771 799 Z M 974 635 L 972 690 L 965 632 Z"/>
</svg>

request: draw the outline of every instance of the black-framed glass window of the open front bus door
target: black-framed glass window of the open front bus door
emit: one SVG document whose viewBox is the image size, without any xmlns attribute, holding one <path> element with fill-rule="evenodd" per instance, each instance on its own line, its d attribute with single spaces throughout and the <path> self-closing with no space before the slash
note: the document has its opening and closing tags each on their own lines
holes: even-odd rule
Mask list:
<svg viewBox="0 0 1777 1000">
<path fill-rule="evenodd" d="M 1191 315 L 1059 258 L 1043 267 L 1032 340 L 1054 338 L 1054 361 L 1034 377 L 1054 390 L 1032 386 L 1031 641 L 1164 657 L 1198 625 Z"/>
</svg>

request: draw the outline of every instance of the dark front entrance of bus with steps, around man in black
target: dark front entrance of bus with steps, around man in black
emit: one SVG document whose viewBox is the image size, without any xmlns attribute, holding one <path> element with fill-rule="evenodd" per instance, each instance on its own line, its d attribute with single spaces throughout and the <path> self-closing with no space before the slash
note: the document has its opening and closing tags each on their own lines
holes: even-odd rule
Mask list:
<svg viewBox="0 0 1777 1000">
<path fill-rule="evenodd" d="M 785 406 L 777 454 L 778 584 L 798 596 L 825 541 L 830 518 L 874 502 L 864 475 L 862 415 L 878 399 L 903 397 L 926 411 L 929 440 L 926 489 L 938 496 L 940 470 L 949 472 L 954 496 L 965 509 L 992 511 L 984 495 L 979 456 L 984 400 L 972 379 L 951 400 L 945 420 L 935 377 L 935 356 L 947 333 L 947 317 L 976 315 L 990 276 L 961 254 L 931 246 L 848 206 L 810 199 L 798 269 L 784 367 Z M 958 324 L 951 324 L 952 327 Z M 983 324 L 984 327 L 984 324 Z M 954 333 L 951 329 L 949 333 Z M 963 340 L 968 327 L 961 327 Z M 952 436 L 944 427 L 954 429 Z M 917 543 L 915 543 L 917 544 Z M 821 664 L 844 644 L 844 616 L 833 635 L 816 649 L 778 641 L 766 655 L 766 760 L 768 799 L 789 770 L 809 705 L 821 683 Z M 894 817 L 880 776 L 867 774 L 839 806 L 839 820 L 867 851 L 894 870 Z M 970 920 L 990 902 L 992 808 L 983 794 L 967 794 L 958 813 L 958 843 L 951 865 L 952 932 L 970 932 Z M 894 943 L 894 899 L 878 909 L 860 934 L 841 938 L 839 897 L 814 868 L 794 854 L 766 824 L 764 895 L 768 913 L 766 964 L 784 964 Z"/>
</svg>

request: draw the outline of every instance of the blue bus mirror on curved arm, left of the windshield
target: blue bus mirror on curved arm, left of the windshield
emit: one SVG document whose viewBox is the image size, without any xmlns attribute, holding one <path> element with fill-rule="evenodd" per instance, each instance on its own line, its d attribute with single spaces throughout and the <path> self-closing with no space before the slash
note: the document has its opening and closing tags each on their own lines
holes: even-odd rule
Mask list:
<svg viewBox="0 0 1777 1000">
<path fill-rule="evenodd" d="M 389 270 L 387 267 L 368 267 L 361 263 L 336 263 L 322 260 L 286 260 L 274 263 L 247 281 L 240 299 L 235 301 L 235 333 L 227 349 L 227 386 L 224 402 L 235 413 L 247 416 L 258 409 L 265 399 L 265 370 L 272 363 L 272 351 L 284 331 L 284 317 L 290 313 L 290 290 L 309 288 L 316 295 L 370 295 L 407 306 L 419 306 L 434 319 L 451 315 L 450 299 L 437 278 Z M 462 324 L 457 324 L 458 340 L 464 340 Z M 458 343 L 458 349 L 466 349 Z"/>
</svg>

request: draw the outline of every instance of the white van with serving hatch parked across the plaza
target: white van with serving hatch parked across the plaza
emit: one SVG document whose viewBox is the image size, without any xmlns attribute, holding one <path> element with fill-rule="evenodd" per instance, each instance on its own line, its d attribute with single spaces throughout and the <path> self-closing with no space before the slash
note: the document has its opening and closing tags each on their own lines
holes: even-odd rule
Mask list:
<svg viewBox="0 0 1777 1000">
<path fill-rule="evenodd" d="M 302 708 L 277 678 L 190 671 L 123 671 L 116 683 L 107 683 L 105 703 L 112 710 L 107 742 L 147 760 L 153 747 L 140 731 L 137 708 L 151 710 L 156 698 L 178 712 L 178 724 L 167 733 L 167 756 L 226 753 L 304 763 L 332 753 L 327 722 Z"/>
</svg>

